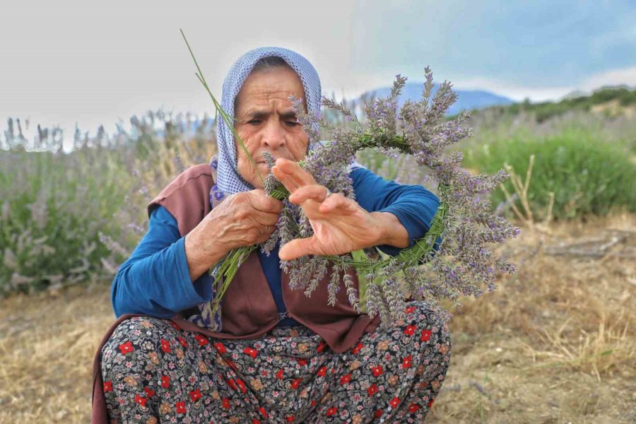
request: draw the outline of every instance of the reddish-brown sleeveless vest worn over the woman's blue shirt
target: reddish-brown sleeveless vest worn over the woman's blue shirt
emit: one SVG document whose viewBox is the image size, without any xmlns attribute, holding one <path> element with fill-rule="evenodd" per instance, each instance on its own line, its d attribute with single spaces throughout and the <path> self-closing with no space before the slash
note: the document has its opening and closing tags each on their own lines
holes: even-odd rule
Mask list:
<svg viewBox="0 0 636 424">
<path fill-rule="evenodd" d="M 177 220 L 182 237 L 187 235 L 212 209 L 209 194 L 214 179 L 216 175 L 213 175 L 210 165 L 189 167 L 148 204 L 148 215 L 155 205 L 165 207 Z M 218 201 L 213 199 L 213 206 L 217 204 Z M 351 275 L 358 289 L 358 277 L 355 273 Z M 283 301 L 291 317 L 324 338 L 334 352 L 342 353 L 351 348 L 365 331 L 374 331 L 379 317 L 370 319 L 367 314 L 356 312 L 349 305 L 346 290 L 338 291 L 335 306 L 328 305 L 328 283 L 329 273 L 312 297 L 307 298 L 303 290 L 289 288 L 289 276 L 283 273 Z M 225 292 L 221 319 L 222 332 L 198 331 L 216 338 L 260 338 L 276 326 L 276 302 L 256 251 L 242 264 Z"/>
</svg>

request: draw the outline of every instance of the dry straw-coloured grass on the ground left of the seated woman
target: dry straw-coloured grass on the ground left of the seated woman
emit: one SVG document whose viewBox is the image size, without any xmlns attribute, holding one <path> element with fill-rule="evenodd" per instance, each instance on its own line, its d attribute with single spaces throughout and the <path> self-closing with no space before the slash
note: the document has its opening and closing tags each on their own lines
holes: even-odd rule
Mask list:
<svg viewBox="0 0 636 424">
<path fill-rule="evenodd" d="M 87 423 L 108 283 L 0 302 L 0 423 Z"/>
</svg>

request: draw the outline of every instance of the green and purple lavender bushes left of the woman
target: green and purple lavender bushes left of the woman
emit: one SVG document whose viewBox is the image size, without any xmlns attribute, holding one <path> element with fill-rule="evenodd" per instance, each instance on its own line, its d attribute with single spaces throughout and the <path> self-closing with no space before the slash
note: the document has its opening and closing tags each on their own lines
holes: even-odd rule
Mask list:
<svg viewBox="0 0 636 424">
<path fill-rule="evenodd" d="M 110 279 L 146 232 L 147 202 L 186 167 L 206 163 L 213 122 L 148 112 L 115 134 L 59 128 L 0 137 L 0 295 Z"/>
</svg>

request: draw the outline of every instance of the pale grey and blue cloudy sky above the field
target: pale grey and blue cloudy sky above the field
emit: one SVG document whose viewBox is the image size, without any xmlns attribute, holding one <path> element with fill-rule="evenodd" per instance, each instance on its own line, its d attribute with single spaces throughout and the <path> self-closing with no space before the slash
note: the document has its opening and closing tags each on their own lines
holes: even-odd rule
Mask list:
<svg viewBox="0 0 636 424">
<path fill-rule="evenodd" d="M 146 110 L 211 112 L 186 33 L 218 97 L 254 47 L 303 54 L 324 93 L 359 95 L 396 73 L 514 100 L 636 86 L 636 1 L 3 1 L 0 129 L 114 129 Z"/>
</svg>

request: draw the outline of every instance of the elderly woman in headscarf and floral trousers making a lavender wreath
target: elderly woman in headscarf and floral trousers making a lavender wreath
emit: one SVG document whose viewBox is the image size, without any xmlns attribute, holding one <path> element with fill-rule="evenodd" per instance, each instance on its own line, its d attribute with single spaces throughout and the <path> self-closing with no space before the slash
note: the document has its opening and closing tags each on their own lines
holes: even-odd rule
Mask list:
<svg viewBox="0 0 636 424">
<path fill-rule="evenodd" d="M 355 201 L 331 194 L 298 166 L 307 134 L 288 98 L 318 112 L 314 67 L 288 49 L 248 52 L 230 69 L 222 106 L 237 134 L 314 235 L 260 250 L 211 314 L 208 269 L 231 249 L 266 241 L 283 205 L 266 196 L 230 129 L 218 122 L 218 158 L 179 175 L 150 204 L 150 225 L 112 285 L 119 317 L 95 360 L 94 422 L 421 422 L 446 373 L 447 328 L 424 302 L 385 328 L 326 283 L 312 298 L 290 290 L 280 261 L 376 246 L 396 254 L 428 230 L 439 201 L 420 186 L 387 182 L 352 164 Z M 353 275 L 357 287 L 358 279 Z"/>
</svg>

